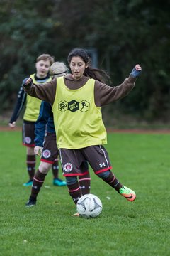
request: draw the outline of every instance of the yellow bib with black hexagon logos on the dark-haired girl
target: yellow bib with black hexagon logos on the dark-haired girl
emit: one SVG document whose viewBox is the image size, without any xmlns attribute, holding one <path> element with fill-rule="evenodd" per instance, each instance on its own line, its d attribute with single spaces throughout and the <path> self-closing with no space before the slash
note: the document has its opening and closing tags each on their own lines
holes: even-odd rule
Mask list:
<svg viewBox="0 0 170 256">
<path fill-rule="evenodd" d="M 89 79 L 83 87 L 70 90 L 64 84 L 64 77 L 57 78 L 52 112 L 59 149 L 81 149 L 107 143 L 101 107 L 96 107 L 94 102 L 94 82 Z"/>
</svg>

